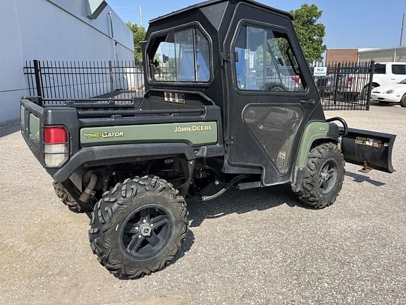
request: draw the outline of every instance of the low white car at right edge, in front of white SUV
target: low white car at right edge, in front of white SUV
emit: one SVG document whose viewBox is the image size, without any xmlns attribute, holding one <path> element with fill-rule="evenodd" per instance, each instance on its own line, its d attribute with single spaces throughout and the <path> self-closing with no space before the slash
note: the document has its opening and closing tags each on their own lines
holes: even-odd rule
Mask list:
<svg viewBox="0 0 406 305">
<path fill-rule="evenodd" d="M 395 85 L 374 88 L 371 98 L 374 102 L 400 103 L 406 107 L 406 79 Z"/>
</svg>

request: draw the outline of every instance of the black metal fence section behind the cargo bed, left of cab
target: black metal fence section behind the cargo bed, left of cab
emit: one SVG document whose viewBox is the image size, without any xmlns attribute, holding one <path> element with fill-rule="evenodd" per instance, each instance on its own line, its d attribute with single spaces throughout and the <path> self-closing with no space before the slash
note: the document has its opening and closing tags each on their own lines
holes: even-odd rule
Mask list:
<svg viewBox="0 0 406 305">
<path fill-rule="evenodd" d="M 30 95 L 46 99 L 85 99 L 121 92 L 144 94 L 144 73 L 132 61 L 26 61 Z"/>
</svg>

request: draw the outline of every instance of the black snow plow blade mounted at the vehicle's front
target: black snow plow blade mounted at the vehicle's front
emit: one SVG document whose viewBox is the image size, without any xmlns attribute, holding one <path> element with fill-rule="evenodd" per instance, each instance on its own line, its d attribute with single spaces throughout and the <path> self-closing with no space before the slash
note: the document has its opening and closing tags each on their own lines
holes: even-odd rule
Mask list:
<svg viewBox="0 0 406 305">
<path fill-rule="evenodd" d="M 377 169 L 381 172 L 395 172 L 392 165 L 392 150 L 396 136 L 348 128 L 343 136 L 341 150 L 348 163 L 362 165 L 364 172 Z"/>
</svg>

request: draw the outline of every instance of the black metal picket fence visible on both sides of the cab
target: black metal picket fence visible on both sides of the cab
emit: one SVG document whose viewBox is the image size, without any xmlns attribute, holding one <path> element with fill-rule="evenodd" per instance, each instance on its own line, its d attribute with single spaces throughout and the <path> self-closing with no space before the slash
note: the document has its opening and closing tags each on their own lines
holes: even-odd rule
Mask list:
<svg viewBox="0 0 406 305">
<path fill-rule="evenodd" d="M 311 64 L 325 110 L 369 110 L 374 62 Z M 144 73 L 131 61 L 26 61 L 30 95 L 45 99 L 132 98 L 144 94 Z M 293 83 L 293 81 L 292 81 Z M 297 84 L 295 84 L 297 85 Z"/>
</svg>

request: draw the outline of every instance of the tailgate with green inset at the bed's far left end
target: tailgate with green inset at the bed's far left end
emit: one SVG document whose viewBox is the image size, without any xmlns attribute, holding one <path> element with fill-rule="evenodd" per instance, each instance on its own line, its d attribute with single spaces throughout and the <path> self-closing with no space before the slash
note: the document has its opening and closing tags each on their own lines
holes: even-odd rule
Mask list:
<svg viewBox="0 0 406 305">
<path fill-rule="evenodd" d="M 21 99 L 20 101 L 20 119 L 21 133 L 28 147 L 34 153 L 35 157 L 43 164 L 44 154 L 42 153 L 42 115 L 44 108 L 31 102 Z"/>
</svg>

